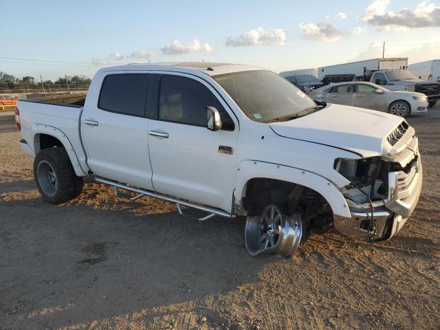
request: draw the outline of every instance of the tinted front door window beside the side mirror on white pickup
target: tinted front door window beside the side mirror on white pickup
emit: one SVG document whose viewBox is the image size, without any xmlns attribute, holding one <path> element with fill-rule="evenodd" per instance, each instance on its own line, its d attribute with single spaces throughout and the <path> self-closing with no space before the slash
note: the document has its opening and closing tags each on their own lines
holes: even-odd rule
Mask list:
<svg viewBox="0 0 440 330">
<path fill-rule="evenodd" d="M 206 126 L 206 107 L 215 107 L 219 111 L 224 129 L 234 129 L 232 120 L 219 100 L 201 83 L 185 77 L 162 76 L 159 120 Z M 230 123 L 232 129 L 228 129 Z"/>
</svg>

